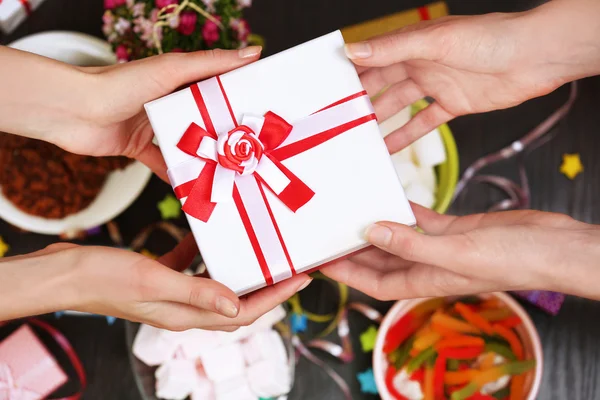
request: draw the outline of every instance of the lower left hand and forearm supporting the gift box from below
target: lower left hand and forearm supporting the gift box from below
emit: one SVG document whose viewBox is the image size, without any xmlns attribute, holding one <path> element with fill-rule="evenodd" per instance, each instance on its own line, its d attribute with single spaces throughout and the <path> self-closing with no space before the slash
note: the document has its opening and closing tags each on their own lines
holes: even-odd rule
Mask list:
<svg viewBox="0 0 600 400">
<path fill-rule="evenodd" d="M 198 253 L 191 235 L 154 261 L 104 247 L 52 245 L 0 261 L 0 321 L 60 310 L 84 311 L 169 330 L 231 331 L 303 289 L 298 275 L 246 298 L 186 269 Z"/>
</svg>

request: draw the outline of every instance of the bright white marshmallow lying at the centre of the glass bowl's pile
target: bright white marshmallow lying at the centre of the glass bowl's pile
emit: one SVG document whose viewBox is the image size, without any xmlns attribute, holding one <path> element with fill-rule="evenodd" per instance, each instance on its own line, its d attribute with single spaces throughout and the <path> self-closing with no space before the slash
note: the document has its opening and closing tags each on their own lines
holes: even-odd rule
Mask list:
<svg viewBox="0 0 600 400">
<path fill-rule="evenodd" d="M 218 383 L 244 375 L 246 363 L 240 343 L 230 343 L 205 351 L 200 361 L 211 381 Z"/>
</svg>

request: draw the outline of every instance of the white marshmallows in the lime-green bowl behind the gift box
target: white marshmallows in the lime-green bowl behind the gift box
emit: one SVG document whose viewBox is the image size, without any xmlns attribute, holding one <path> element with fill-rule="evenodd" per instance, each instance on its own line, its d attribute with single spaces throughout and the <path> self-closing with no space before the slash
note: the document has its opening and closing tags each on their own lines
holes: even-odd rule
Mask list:
<svg viewBox="0 0 600 400">
<path fill-rule="evenodd" d="M 411 119 L 411 108 L 406 107 L 398 114 L 382 122 L 379 129 L 386 137 L 404 126 Z M 437 192 L 435 167 L 446 161 L 446 148 L 435 129 L 410 146 L 392 154 L 392 161 L 402 182 L 406 197 L 413 203 L 432 208 Z"/>
</svg>

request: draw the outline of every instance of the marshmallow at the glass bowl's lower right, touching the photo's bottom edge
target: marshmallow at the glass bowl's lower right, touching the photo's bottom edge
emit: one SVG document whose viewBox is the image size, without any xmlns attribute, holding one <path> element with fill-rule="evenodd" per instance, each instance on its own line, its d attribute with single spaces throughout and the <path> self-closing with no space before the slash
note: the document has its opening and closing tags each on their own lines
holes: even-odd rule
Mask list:
<svg viewBox="0 0 600 400">
<path fill-rule="evenodd" d="M 248 367 L 248 382 L 261 398 L 287 394 L 291 389 L 290 369 L 282 360 L 267 359 Z"/>
</svg>

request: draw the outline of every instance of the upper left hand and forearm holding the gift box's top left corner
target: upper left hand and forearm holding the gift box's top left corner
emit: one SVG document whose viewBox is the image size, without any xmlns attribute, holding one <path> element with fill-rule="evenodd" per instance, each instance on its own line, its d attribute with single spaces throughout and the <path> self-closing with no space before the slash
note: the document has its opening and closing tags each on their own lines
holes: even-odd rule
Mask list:
<svg viewBox="0 0 600 400">
<path fill-rule="evenodd" d="M 171 53 L 76 67 L 0 46 L 0 132 L 41 139 L 71 153 L 136 158 L 167 180 L 144 104 L 256 61 L 261 50 Z"/>
</svg>

